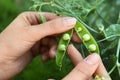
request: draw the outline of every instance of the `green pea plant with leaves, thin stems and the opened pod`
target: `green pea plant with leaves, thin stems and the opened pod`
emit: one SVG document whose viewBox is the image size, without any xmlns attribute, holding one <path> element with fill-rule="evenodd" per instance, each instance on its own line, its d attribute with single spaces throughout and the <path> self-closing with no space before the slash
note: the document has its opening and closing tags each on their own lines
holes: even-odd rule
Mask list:
<svg viewBox="0 0 120 80">
<path fill-rule="evenodd" d="M 77 19 L 74 29 L 65 32 L 59 39 L 56 64 L 62 59 L 70 43 L 73 30 L 83 41 L 77 48 L 85 56 L 99 53 L 113 80 L 120 77 L 120 0 L 32 0 L 31 9 L 52 12 L 59 16 Z M 42 15 L 40 18 L 45 22 Z M 97 80 L 97 79 L 96 79 Z"/>
</svg>

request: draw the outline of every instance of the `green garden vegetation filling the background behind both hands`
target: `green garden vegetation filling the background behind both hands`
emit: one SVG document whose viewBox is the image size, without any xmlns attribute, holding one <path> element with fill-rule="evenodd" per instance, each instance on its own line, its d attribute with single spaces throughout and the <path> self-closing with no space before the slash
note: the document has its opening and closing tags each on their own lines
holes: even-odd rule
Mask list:
<svg viewBox="0 0 120 80">
<path fill-rule="evenodd" d="M 51 0 L 33 0 L 34 2 L 43 3 Z M 28 11 L 33 6 L 31 0 L 0 0 L 0 32 L 21 12 Z M 120 79 L 120 0 L 56 0 L 64 4 L 66 8 L 71 7 L 71 2 L 77 2 L 73 5 L 76 16 L 91 28 L 95 29 L 99 34 L 95 34 L 97 42 L 101 50 L 102 60 L 110 73 L 113 80 Z M 101 1 L 101 3 L 92 10 L 93 6 Z M 96 4 L 96 5 L 94 5 Z M 34 3 L 36 5 L 36 3 Z M 37 4 L 38 6 L 38 4 Z M 58 5 L 60 6 L 60 5 Z M 81 8 L 80 11 L 78 9 Z M 47 7 L 47 8 L 46 8 Z M 49 8 L 48 8 L 49 7 Z M 77 9 L 78 8 L 78 9 Z M 34 8 L 35 9 L 35 8 Z M 54 10 L 57 10 L 55 12 Z M 90 9 L 90 10 L 88 10 Z M 51 5 L 45 5 L 42 11 L 54 12 L 59 15 L 68 15 L 66 11 L 58 10 Z M 88 14 L 86 14 L 88 13 Z M 80 14 L 80 15 L 79 15 Z M 71 15 L 69 15 L 71 16 Z M 94 26 L 94 27 L 93 27 Z M 94 34 L 94 32 L 91 31 Z M 108 38 L 110 37 L 110 38 Z M 81 51 L 81 45 L 76 46 Z M 83 49 L 82 49 L 83 50 Z M 50 78 L 60 80 L 72 68 L 73 65 L 65 56 L 63 67 L 60 71 L 55 64 L 55 60 L 43 63 L 40 56 L 35 58 L 28 67 L 13 80 L 47 80 Z"/>
</svg>

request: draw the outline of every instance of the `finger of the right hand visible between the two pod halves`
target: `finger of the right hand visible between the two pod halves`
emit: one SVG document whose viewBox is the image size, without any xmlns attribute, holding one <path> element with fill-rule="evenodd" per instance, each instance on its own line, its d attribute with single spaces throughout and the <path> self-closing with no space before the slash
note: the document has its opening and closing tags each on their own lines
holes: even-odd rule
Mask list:
<svg viewBox="0 0 120 80">
<path fill-rule="evenodd" d="M 67 52 L 69 58 L 71 59 L 74 65 L 77 65 L 81 60 L 83 60 L 82 55 L 72 44 L 68 46 Z"/>
</svg>

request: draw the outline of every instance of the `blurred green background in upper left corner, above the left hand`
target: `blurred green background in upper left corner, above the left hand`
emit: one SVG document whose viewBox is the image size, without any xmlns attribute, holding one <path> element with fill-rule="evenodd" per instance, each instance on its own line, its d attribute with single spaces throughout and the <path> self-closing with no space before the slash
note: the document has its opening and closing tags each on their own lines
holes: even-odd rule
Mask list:
<svg viewBox="0 0 120 80">
<path fill-rule="evenodd" d="M 29 9 L 29 0 L 0 0 L 0 32 L 21 12 Z"/>
</svg>

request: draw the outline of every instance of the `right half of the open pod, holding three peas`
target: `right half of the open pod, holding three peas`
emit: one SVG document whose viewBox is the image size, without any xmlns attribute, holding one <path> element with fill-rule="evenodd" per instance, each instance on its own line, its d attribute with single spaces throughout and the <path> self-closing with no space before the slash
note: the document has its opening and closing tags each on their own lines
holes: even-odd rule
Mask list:
<svg viewBox="0 0 120 80">
<path fill-rule="evenodd" d="M 83 41 L 83 44 L 88 49 L 88 51 L 90 53 L 99 54 L 98 44 L 93 38 L 93 36 L 90 34 L 90 32 L 86 29 L 86 27 L 77 21 L 74 28 L 78 37 Z"/>
</svg>

